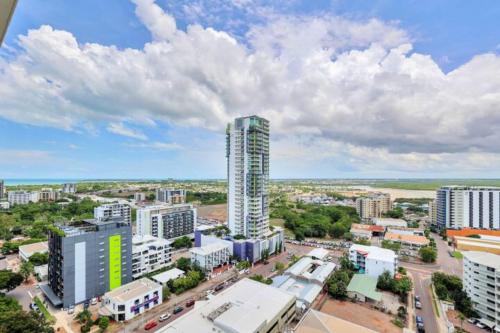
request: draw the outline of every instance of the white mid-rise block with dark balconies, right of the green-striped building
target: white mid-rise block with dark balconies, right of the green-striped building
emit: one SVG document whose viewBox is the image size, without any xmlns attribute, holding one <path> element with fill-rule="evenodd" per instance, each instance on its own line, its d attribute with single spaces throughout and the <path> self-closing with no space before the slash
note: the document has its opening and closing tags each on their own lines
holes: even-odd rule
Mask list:
<svg viewBox="0 0 500 333">
<path fill-rule="evenodd" d="M 137 210 L 137 234 L 164 239 L 194 236 L 196 208 L 189 204 L 154 205 Z"/>
</svg>

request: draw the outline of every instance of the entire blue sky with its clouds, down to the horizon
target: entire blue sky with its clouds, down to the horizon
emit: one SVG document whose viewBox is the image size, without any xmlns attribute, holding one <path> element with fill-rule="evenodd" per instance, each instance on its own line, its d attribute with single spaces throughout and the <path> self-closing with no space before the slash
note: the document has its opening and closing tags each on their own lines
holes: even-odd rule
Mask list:
<svg viewBox="0 0 500 333">
<path fill-rule="evenodd" d="M 490 1 L 20 1 L 0 178 L 223 178 L 224 123 L 249 113 L 271 120 L 274 178 L 498 177 L 498 17 Z"/>
</svg>

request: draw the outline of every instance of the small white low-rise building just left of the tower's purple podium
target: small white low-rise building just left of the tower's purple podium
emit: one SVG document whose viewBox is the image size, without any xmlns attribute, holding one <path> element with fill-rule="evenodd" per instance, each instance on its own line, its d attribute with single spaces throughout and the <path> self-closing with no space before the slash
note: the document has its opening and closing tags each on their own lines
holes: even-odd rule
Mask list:
<svg viewBox="0 0 500 333">
<path fill-rule="evenodd" d="M 231 251 L 225 242 L 215 242 L 189 250 L 191 263 L 198 265 L 204 272 L 212 272 L 214 268 L 229 263 Z"/>
</svg>

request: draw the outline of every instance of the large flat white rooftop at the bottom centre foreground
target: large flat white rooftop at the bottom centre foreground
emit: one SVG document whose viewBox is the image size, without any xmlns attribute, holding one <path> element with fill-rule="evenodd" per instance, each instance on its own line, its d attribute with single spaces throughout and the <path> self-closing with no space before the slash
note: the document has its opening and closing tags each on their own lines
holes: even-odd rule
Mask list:
<svg viewBox="0 0 500 333">
<path fill-rule="evenodd" d="M 265 327 L 295 297 L 280 289 L 243 279 L 174 320 L 157 333 L 253 333 Z"/>
</svg>

